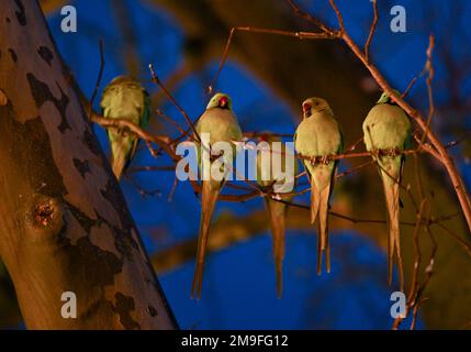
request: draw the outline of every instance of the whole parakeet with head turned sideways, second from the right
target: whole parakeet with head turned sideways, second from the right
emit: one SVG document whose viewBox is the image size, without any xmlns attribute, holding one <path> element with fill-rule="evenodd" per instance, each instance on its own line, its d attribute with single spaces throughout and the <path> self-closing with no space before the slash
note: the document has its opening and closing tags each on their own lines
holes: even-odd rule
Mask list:
<svg viewBox="0 0 471 352">
<path fill-rule="evenodd" d="M 322 272 L 322 255 L 325 251 L 327 273 L 330 272 L 328 246 L 328 208 L 337 162 L 327 161 L 328 155 L 340 154 L 344 142 L 337 120 L 327 101 L 310 98 L 303 102 L 303 121 L 294 135 L 294 147 L 302 156 L 323 157 L 313 163 L 304 160 L 304 168 L 311 182 L 311 222 L 319 217 L 317 240 L 317 274 Z"/>
</svg>

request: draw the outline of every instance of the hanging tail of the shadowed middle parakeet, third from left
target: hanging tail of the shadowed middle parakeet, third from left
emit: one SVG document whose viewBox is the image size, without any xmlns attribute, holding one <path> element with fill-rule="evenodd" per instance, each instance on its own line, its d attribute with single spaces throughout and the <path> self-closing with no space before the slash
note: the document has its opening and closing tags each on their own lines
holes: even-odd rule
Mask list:
<svg viewBox="0 0 471 352">
<path fill-rule="evenodd" d="M 270 228 L 273 242 L 273 260 L 277 275 L 277 295 L 282 294 L 282 267 L 284 260 L 284 231 L 287 205 L 266 198 L 267 210 L 270 217 Z"/>
</svg>

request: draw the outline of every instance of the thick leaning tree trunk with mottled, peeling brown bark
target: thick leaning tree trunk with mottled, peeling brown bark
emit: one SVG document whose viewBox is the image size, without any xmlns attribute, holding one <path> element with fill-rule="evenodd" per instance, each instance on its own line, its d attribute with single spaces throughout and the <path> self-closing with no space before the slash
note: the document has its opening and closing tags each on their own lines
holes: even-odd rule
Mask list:
<svg viewBox="0 0 471 352">
<path fill-rule="evenodd" d="M 177 328 L 36 1 L 0 2 L 0 199 L 27 328 Z"/>
</svg>

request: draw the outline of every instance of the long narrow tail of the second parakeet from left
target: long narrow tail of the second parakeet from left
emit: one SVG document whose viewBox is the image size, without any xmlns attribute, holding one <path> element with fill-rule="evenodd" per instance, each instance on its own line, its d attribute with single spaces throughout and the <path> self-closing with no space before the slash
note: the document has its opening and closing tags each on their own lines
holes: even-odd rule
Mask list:
<svg viewBox="0 0 471 352">
<path fill-rule="evenodd" d="M 204 255 L 206 251 L 208 237 L 210 234 L 211 217 L 216 205 L 220 190 L 212 188 L 210 182 L 203 182 L 201 195 L 201 220 L 200 220 L 200 237 L 198 239 L 197 263 L 194 267 L 193 284 L 191 286 L 191 298 L 197 293 L 197 298 L 201 297 L 201 288 L 203 285 L 203 267 Z"/>
</svg>

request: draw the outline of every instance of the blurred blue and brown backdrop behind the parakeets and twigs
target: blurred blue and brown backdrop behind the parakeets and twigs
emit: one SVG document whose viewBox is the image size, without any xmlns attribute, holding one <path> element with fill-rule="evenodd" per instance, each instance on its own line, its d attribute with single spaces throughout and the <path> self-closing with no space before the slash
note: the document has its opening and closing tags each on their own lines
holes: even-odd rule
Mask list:
<svg viewBox="0 0 471 352">
<path fill-rule="evenodd" d="M 87 96 L 91 96 L 100 66 L 98 41 L 104 42 L 105 70 L 102 87 L 114 76 L 137 77 L 153 97 L 155 109 L 184 125 L 178 111 L 149 81 L 147 65 L 154 63 L 186 111 L 197 119 L 209 99 L 205 88 L 214 76 L 232 26 L 250 25 L 312 31 L 284 1 L 276 0 L 41 0 L 53 37 Z M 78 32 L 60 31 L 60 7 L 72 4 Z M 336 25 L 328 1 L 299 1 L 315 16 Z M 390 9 L 406 9 L 406 33 L 390 31 Z M 372 21 L 369 0 L 338 0 L 347 30 L 362 44 Z M 445 142 L 470 129 L 471 112 L 471 3 L 466 0 L 380 0 L 380 21 L 371 44 L 371 58 L 403 91 L 419 75 L 426 59 L 428 35 L 436 36 L 434 81 L 437 113 L 433 128 Z M 228 92 L 244 131 L 291 134 L 300 121 L 300 103 L 311 96 L 326 98 L 339 119 L 346 145 L 361 138 L 361 123 L 380 95 L 377 84 L 347 47 L 337 41 L 298 41 L 276 35 L 238 33 L 216 90 Z M 426 111 L 427 96 L 420 77 L 407 100 Z M 96 109 L 99 108 L 96 101 Z M 178 131 L 157 114 L 150 130 L 172 136 Z M 109 153 L 103 129 L 96 127 Z M 471 144 L 451 151 L 470 186 Z M 343 162 L 348 169 L 365 161 Z M 413 161 L 406 163 L 404 184 L 416 195 Z M 144 148 L 133 166 L 170 165 L 162 156 L 153 160 Z M 459 210 L 447 176 L 428 156 L 419 160 L 424 187 L 433 197 L 435 217 Z M 153 257 L 170 305 L 186 329 L 389 329 L 390 294 L 386 285 L 386 227 L 351 223 L 330 217 L 332 261 L 329 275 L 317 276 L 316 233 L 307 212 L 289 212 L 284 292 L 276 298 L 268 221 L 261 199 L 240 204 L 220 202 L 213 218 L 203 296 L 190 300 L 193 253 L 200 205 L 188 183 L 171 194 L 172 172 L 128 173 L 122 188 L 148 252 Z M 158 190 L 146 196 L 144 189 Z M 296 202 L 307 204 L 307 195 Z M 403 221 L 415 221 L 403 197 Z M 333 210 L 357 219 L 385 219 L 384 200 L 374 167 L 343 177 L 336 185 Z M 471 237 L 461 217 L 446 224 L 460 239 Z M 471 321 L 471 258 L 444 230 L 434 227 L 438 243 L 434 274 L 424 294 L 417 328 L 469 328 Z M 413 228 L 402 228 L 406 277 L 413 268 Z M 425 267 L 430 240 L 420 234 Z M 423 273 L 422 273 L 423 274 Z M 423 277 L 423 275 L 420 276 Z M 408 321 L 402 324 L 406 328 Z M 0 327 L 21 327 L 13 287 L 0 266 Z"/>
</svg>

